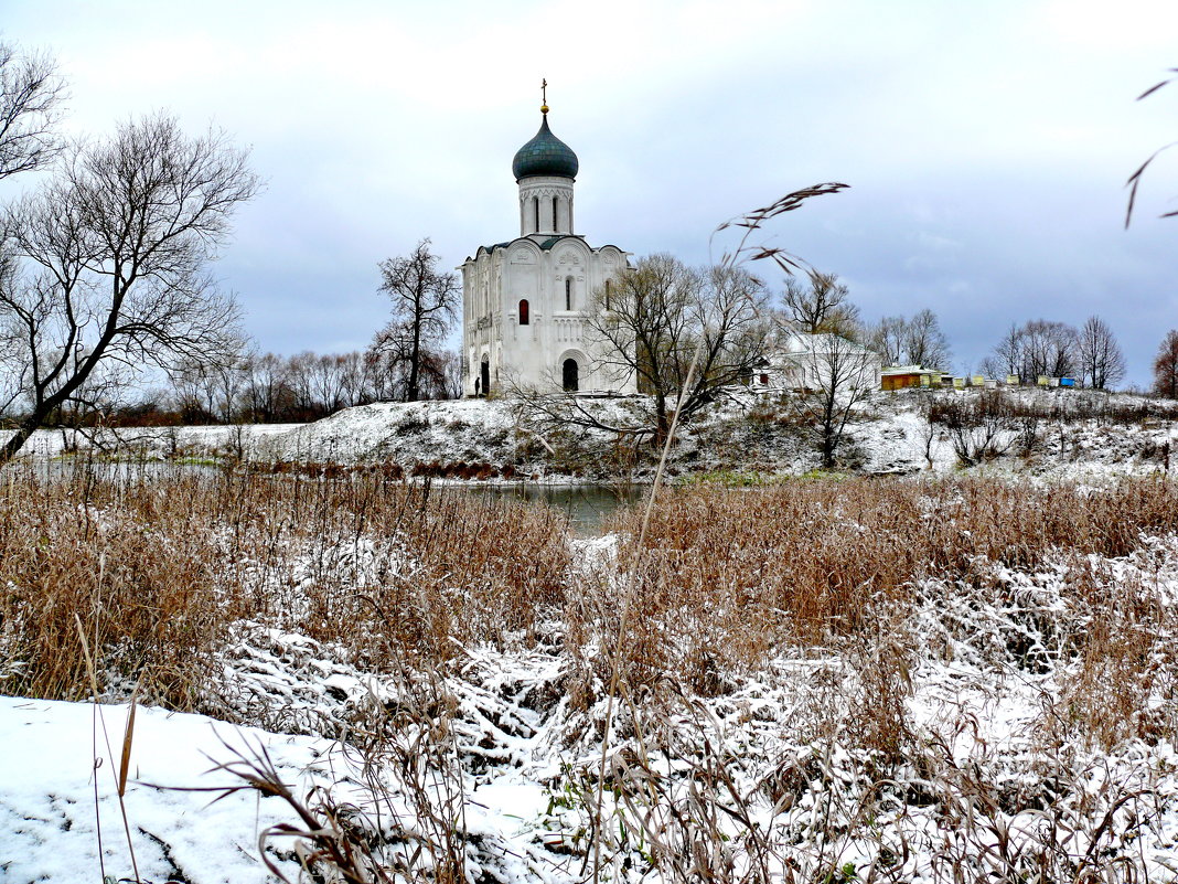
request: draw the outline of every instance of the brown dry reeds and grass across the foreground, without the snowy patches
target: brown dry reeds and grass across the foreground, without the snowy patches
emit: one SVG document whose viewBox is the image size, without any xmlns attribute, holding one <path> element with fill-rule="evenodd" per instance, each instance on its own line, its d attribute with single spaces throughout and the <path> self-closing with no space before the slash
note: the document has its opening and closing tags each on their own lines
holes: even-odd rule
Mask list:
<svg viewBox="0 0 1178 884">
<path fill-rule="evenodd" d="M 570 698 L 573 717 L 600 714 L 616 684 L 618 745 L 608 770 L 585 765 L 565 778 L 582 796 L 602 785 L 614 796 L 604 818 L 583 820 L 601 830 L 595 837 L 610 827 L 600 864 L 618 875 L 621 863 L 636 862 L 671 880 L 888 880 L 893 865 L 911 871 L 916 853 L 932 879 L 954 879 L 966 860 L 977 865 L 969 880 L 1114 873 L 1124 857 L 1107 820 L 1144 807 L 1149 772 L 1088 794 L 1091 763 L 1067 753 L 1176 735 L 1174 625 L 1160 553 L 1149 580 L 1147 539 L 1178 534 L 1178 493 L 1167 481 L 1091 489 L 863 479 L 668 492 L 649 516 L 620 513 L 616 562 L 590 567 L 574 559 L 567 525 L 550 510 L 406 486 L 378 470 L 329 479 L 81 463 L 54 477 L 11 470 L 6 479 L 7 692 L 79 698 L 92 677 L 107 694 L 143 679 L 145 701 L 207 708 L 203 682 L 243 620 L 332 642 L 398 686 L 398 702 L 373 701 L 351 731 L 373 778 L 371 819 L 350 822 L 317 793 L 297 799 L 310 813 L 305 831 L 274 832 L 310 839 L 311 865 L 352 857 L 371 869 L 372 857 L 411 856 L 398 872 L 406 879 L 463 878 L 471 759 L 456 734 L 449 679 L 465 649 L 488 642 L 568 660 L 551 693 L 537 693 L 548 697 L 538 700 L 545 714 L 557 695 Z M 1131 580 L 1108 565 L 1123 556 L 1139 562 Z M 1046 580 L 1040 572 L 1053 575 L 1058 596 L 1035 607 L 1024 596 Z M 626 581 L 633 592 L 622 592 Z M 945 596 L 931 600 L 932 592 Z M 623 595 L 626 652 L 615 654 Z M 944 609 L 945 635 L 916 634 L 931 601 Z M 1039 772 L 1038 789 L 987 781 L 1004 761 L 985 747 L 966 763 L 914 735 L 906 700 L 920 655 L 940 641 L 986 638 L 971 634 L 968 620 L 954 626 L 953 605 L 1011 612 L 993 632 L 1005 642 L 995 652 L 1004 666 L 1027 677 L 1058 667 L 1059 693 L 1045 699 L 1039 727 L 1043 758 L 1057 767 Z M 814 684 L 829 684 L 781 724 L 813 751 L 783 758 L 742 791 L 743 759 L 706 698 L 735 695 L 782 660 L 820 664 Z M 589 744 L 601 737 L 600 718 L 596 726 Z M 847 780 L 834 746 L 859 753 L 858 779 Z M 245 783 L 266 789 L 266 768 L 241 760 Z M 378 781 L 388 771 L 401 779 Z M 754 825 L 766 799 L 786 820 L 775 834 Z M 806 840 L 790 842 L 800 836 L 789 814 L 805 801 L 813 806 Z M 948 820 L 939 843 L 920 840 L 915 813 L 927 805 Z M 1037 807 L 1054 814 L 1050 831 L 1028 822 Z M 876 822 L 885 817 L 886 826 Z M 410 818 L 422 838 L 416 852 L 371 840 L 393 831 L 404 843 Z M 868 836 L 878 838 L 873 865 L 847 872 L 847 844 Z M 356 860 L 356 850 L 369 852 Z"/>
</svg>

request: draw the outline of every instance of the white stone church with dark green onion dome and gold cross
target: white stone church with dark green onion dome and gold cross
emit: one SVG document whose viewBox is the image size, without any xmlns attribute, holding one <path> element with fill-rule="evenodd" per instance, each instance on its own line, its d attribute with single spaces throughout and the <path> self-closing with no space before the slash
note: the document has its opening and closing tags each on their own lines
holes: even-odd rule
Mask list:
<svg viewBox="0 0 1178 884">
<path fill-rule="evenodd" d="M 483 245 L 462 264 L 464 392 L 511 388 L 634 392 L 633 375 L 601 365 L 585 318 L 595 292 L 627 270 L 628 252 L 590 246 L 574 232 L 577 154 L 548 127 L 511 163 L 519 185 L 519 236 Z"/>
</svg>

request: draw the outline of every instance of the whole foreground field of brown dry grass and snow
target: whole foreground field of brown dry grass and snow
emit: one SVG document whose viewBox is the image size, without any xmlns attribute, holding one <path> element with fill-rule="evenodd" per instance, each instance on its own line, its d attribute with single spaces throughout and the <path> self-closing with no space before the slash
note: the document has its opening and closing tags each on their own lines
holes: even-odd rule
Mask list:
<svg viewBox="0 0 1178 884">
<path fill-rule="evenodd" d="M 274 824 L 263 856 L 325 879 L 1178 877 L 1167 480 L 694 487 L 640 548 L 637 513 L 575 540 L 379 471 L 2 479 L 0 690 L 84 700 L 77 618 L 106 700 L 265 728 L 144 713 L 147 879 L 265 879 Z M 0 705 L 9 876 L 97 877 L 99 829 L 130 875 L 90 715 Z M 143 785 L 168 764 L 258 820 Z"/>
</svg>

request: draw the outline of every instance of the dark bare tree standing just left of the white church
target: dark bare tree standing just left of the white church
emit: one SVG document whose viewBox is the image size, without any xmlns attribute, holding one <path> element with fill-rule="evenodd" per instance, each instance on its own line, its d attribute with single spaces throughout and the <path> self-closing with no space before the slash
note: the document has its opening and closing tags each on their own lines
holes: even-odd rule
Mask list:
<svg viewBox="0 0 1178 884">
<path fill-rule="evenodd" d="M 372 350 L 404 364 L 404 398 L 422 397 L 422 372 L 428 358 L 458 316 L 462 288 L 455 273 L 438 272 L 438 257 L 423 239 L 405 258 L 380 262 L 380 291 L 392 301 L 392 318 L 377 332 Z"/>
</svg>

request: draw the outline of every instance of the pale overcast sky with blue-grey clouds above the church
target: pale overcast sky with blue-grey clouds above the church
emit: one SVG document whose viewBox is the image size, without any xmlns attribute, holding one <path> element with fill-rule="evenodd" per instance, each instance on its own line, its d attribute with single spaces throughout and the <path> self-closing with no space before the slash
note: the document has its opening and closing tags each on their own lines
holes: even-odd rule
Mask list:
<svg viewBox="0 0 1178 884">
<path fill-rule="evenodd" d="M 263 350 L 363 348 L 382 258 L 517 236 L 541 78 L 590 244 L 704 263 L 724 219 L 845 182 L 772 243 L 868 319 L 932 308 L 959 370 L 1012 322 L 1098 314 L 1145 385 L 1178 326 L 1178 149 L 1123 224 L 1178 139 L 1178 84 L 1134 101 L 1178 67 L 1174 0 L 0 0 L 0 28 L 57 55 L 71 133 L 166 110 L 252 149 L 266 189 L 216 272 Z"/>
</svg>

